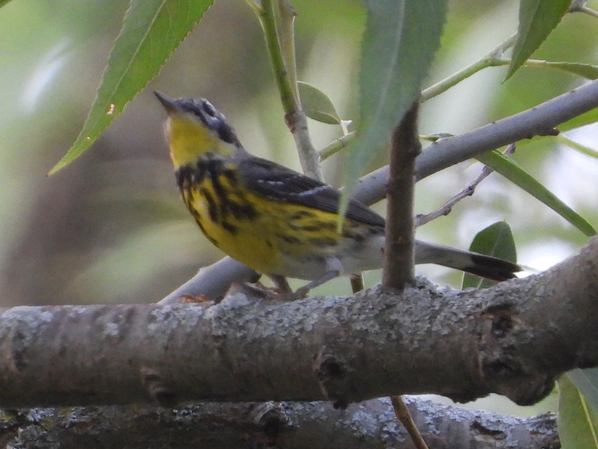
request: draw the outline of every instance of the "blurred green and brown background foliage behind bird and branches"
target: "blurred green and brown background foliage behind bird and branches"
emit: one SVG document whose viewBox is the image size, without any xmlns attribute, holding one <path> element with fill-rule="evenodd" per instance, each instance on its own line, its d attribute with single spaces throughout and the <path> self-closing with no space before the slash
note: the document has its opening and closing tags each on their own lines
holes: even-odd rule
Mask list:
<svg viewBox="0 0 598 449">
<path fill-rule="evenodd" d="M 162 135 L 163 110 L 151 91 L 205 96 L 252 153 L 299 169 L 282 118 L 261 29 L 243 1 L 216 1 L 147 89 L 83 157 L 46 174 L 83 125 L 127 1 L 13 0 L 0 9 L 0 290 L 2 305 L 155 302 L 221 257 L 188 216 Z M 326 92 L 344 119 L 356 119 L 362 2 L 293 1 L 298 11 L 300 79 Z M 598 1 L 588 2 L 598 8 Z M 428 84 L 478 59 L 517 29 L 514 0 L 450 2 L 443 45 Z M 534 57 L 596 63 L 598 21 L 569 14 Z M 523 68 L 490 68 L 426 102 L 420 132 L 457 134 L 565 92 L 584 80 Z M 316 147 L 340 129 L 310 122 Z M 571 134 L 596 147 L 596 129 Z M 598 160 L 551 139 L 515 153 L 523 167 L 592 225 L 598 225 Z M 383 157 L 377 165 L 385 163 Z M 372 167 L 374 168 L 374 167 Z M 324 165 L 337 184 L 342 156 Z M 463 163 L 417 184 L 417 213 L 449 199 L 480 170 Z M 377 205 L 383 212 L 383 204 Z M 418 230 L 422 239 L 468 247 L 498 220 L 512 226 L 520 262 L 545 269 L 584 244 L 556 213 L 493 174 L 447 217 Z M 461 275 L 418 271 L 458 286 Z M 379 273 L 367 274 L 368 284 Z M 319 293 L 349 293 L 348 281 Z M 318 293 L 316 292 L 316 293 Z"/>
</svg>

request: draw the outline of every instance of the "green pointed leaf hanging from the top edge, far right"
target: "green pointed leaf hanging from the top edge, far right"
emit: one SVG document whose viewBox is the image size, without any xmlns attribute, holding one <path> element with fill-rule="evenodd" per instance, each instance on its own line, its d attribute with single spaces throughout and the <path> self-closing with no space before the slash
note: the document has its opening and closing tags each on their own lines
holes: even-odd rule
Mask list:
<svg viewBox="0 0 598 449">
<path fill-rule="evenodd" d="M 532 56 L 550 32 L 559 25 L 570 4 L 570 0 L 521 0 L 517 41 L 505 81 Z"/>
</svg>

